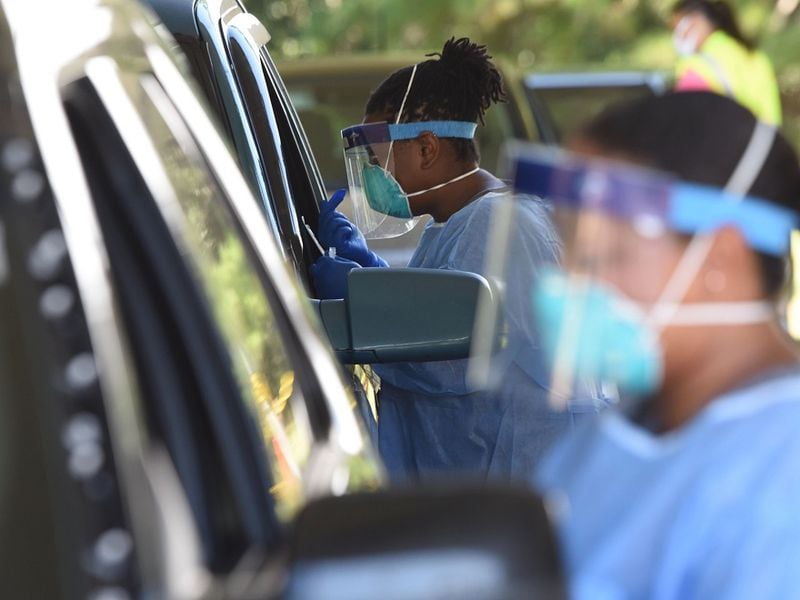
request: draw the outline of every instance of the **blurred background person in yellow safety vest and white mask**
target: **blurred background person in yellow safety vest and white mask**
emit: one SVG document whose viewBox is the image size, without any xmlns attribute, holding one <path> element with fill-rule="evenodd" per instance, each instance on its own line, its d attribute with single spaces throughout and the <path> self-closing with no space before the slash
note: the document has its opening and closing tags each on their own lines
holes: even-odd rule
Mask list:
<svg viewBox="0 0 800 600">
<path fill-rule="evenodd" d="M 769 58 L 746 38 L 725 0 L 679 0 L 672 8 L 680 54 L 676 91 L 729 96 L 766 123 L 781 124 L 778 82 Z"/>
</svg>

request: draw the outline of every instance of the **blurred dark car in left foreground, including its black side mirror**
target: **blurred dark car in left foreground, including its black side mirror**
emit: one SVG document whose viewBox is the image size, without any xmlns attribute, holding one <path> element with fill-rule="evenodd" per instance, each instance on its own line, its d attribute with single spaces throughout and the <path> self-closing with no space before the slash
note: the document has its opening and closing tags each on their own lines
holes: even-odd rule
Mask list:
<svg viewBox="0 0 800 600">
<path fill-rule="evenodd" d="M 381 491 L 274 223 L 138 5 L 0 2 L 0 78 L 0 597 L 563 592 L 530 493 Z"/>
</svg>

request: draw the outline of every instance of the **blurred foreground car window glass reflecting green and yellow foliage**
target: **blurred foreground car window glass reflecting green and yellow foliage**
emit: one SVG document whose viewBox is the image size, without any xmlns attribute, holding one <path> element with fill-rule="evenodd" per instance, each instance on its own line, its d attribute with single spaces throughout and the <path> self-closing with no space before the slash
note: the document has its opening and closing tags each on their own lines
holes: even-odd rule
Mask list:
<svg viewBox="0 0 800 600">
<path fill-rule="evenodd" d="M 141 97 L 141 114 L 176 191 L 173 227 L 182 236 L 186 260 L 216 317 L 241 395 L 263 434 L 275 482 L 271 492 L 279 515 L 288 518 L 302 500 L 313 439 L 299 374 L 252 263 L 252 249 L 222 190 L 199 151 L 191 148 L 188 130 L 158 83 L 143 83 L 150 102 Z"/>
</svg>

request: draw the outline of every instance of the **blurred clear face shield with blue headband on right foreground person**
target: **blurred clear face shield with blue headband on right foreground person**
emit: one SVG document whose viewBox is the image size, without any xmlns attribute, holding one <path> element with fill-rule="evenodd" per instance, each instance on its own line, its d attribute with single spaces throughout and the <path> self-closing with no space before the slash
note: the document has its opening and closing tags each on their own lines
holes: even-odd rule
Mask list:
<svg viewBox="0 0 800 600">
<path fill-rule="evenodd" d="M 759 253 L 788 255 L 797 215 L 747 195 L 774 133 L 757 126 L 725 190 L 548 148 L 512 151 L 518 198 L 544 199 L 562 244 L 560 265 L 538 268 L 527 293 L 553 408 L 593 395 L 628 401 L 655 393 L 668 329 L 775 318 L 763 298 L 693 301 L 690 294 L 698 282 L 705 290 L 725 286 L 707 265 L 722 227 L 735 227 Z M 514 252 L 497 250 L 513 228 L 506 221 L 490 242 L 501 287 L 524 270 Z M 484 382 L 496 359 L 480 340 L 497 337 L 494 323 L 486 314 L 476 319 L 471 371 Z"/>
</svg>

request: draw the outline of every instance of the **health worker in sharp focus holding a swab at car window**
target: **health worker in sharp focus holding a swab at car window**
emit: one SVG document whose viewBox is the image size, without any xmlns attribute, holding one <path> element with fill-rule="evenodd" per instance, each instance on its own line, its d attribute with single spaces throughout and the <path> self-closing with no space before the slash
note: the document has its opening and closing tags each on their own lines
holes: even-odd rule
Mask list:
<svg viewBox="0 0 800 600">
<path fill-rule="evenodd" d="M 409 267 L 482 272 L 491 216 L 508 192 L 479 167 L 473 141 L 486 109 L 504 100 L 490 58 L 485 46 L 451 39 L 434 58 L 390 75 L 369 98 L 363 123 L 342 132 L 356 224 L 335 211 L 343 193 L 321 210 L 320 242 L 336 248 L 312 268 L 321 297 L 343 297 L 352 268 L 386 265 L 362 231 L 405 231 L 417 215 L 433 218 Z M 527 200 L 518 203 L 510 241 L 524 269 L 506 293 L 510 335 L 496 366 L 502 385 L 471 385 L 466 359 L 374 367 L 379 448 L 394 479 L 528 479 L 572 426 L 570 411 L 547 405 L 530 311 L 536 272 L 558 262 L 559 242 L 544 205 Z"/>
</svg>

